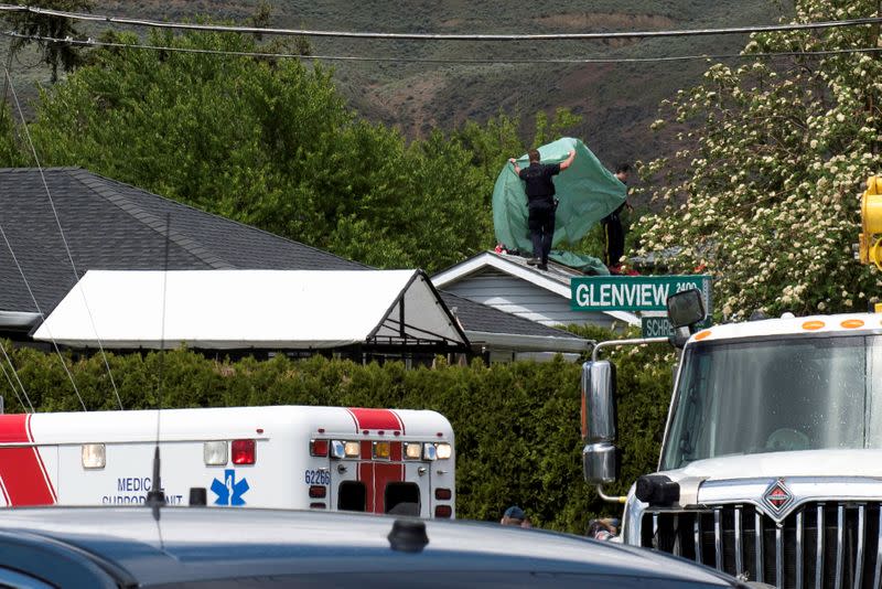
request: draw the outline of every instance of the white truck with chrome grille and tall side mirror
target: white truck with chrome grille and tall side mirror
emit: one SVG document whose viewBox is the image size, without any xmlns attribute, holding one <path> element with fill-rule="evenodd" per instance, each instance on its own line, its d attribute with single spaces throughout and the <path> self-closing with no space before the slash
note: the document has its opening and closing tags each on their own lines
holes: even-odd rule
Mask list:
<svg viewBox="0 0 882 589">
<path fill-rule="evenodd" d="M 657 472 L 626 497 L 602 489 L 617 470 L 609 362 L 585 363 L 583 394 L 585 480 L 625 504 L 624 543 L 782 588 L 882 583 L 882 314 L 689 336 Z"/>
</svg>

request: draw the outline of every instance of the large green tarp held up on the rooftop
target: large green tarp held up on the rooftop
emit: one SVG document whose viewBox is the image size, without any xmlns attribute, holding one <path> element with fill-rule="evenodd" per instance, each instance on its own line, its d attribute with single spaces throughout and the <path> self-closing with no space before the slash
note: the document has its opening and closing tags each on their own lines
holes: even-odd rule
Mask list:
<svg viewBox="0 0 882 589">
<path fill-rule="evenodd" d="M 555 214 L 552 247 L 564 242 L 578 243 L 601 218 L 625 202 L 627 191 L 627 188 L 606 170 L 579 139 L 570 137 L 558 139 L 540 147 L 539 154 L 542 163 L 557 163 L 566 160 L 570 150 L 576 150 L 576 160 L 567 170 L 555 176 L 556 197 L 560 204 Z M 518 165 L 520 168 L 529 165 L 526 154 L 518 158 Z M 496 243 L 527 254 L 533 253 L 533 243 L 527 228 L 527 194 L 524 192 L 524 182 L 509 162 L 505 163 L 493 189 L 493 226 L 496 231 Z M 559 257 L 562 256 L 551 256 L 552 259 Z M 588 258 L 588 256 L 580 257 Z M 603 265 L 596 260 L 596 264 L 588 263 L 583 266 Z"/>
</svg>

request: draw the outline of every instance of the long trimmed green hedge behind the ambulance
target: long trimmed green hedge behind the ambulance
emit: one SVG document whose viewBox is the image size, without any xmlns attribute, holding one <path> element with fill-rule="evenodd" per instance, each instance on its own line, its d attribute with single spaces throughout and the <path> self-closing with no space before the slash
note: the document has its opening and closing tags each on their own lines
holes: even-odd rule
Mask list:
<svg viewBox="0 0 882 589">
<path fill-rule="evenodd" d="M 40 411 L 80 410 L 57 355 L 7 344 L 25 390 Z M 622 481 L 655 468 L 670 389 L 670 357 L 657 351 L 614 353 L 619 370 Z M 100 355 L 65 358 L 89 410 L 118 404 Z M 517 503 L 544 527 L 583 533 L 590 517 L 620 507 L 598 500 L 582 479 L 579 364 L 517 362 L 406 370 L 404 364 L 359 365 L 315 356 L 217 362 L 186 350 L 146 355 L 108 354 L 127 409 L 243 405 L 340 405 L 434 409 L 456 436 L 458 514 L 498 520 Z M 7 365 L 8 367 L 8 365 Z M 6 378 L 7 410 L 21 405 Z"/>
</svg>

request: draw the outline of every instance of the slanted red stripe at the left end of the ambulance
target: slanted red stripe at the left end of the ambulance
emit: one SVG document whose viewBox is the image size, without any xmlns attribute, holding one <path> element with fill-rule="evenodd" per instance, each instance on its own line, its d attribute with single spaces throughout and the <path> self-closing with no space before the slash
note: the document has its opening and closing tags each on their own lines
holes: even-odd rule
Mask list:
<svg viewBox="0 0 882 589">
<path fill-rule="evenodd" d="M 7 505 L 51 505 L 55 490 L 31 436 L 31 415 L 0 415 L 0 485 Z"/>
</svg>

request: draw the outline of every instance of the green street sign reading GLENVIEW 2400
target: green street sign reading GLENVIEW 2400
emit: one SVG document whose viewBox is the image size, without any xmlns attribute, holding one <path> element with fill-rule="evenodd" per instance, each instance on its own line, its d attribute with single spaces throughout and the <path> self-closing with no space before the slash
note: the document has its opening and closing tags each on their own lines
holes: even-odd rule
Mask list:
<svg viewBox="0 0 882 589">
<path fill-rule="evenodd" d="M 711 310 L 710 276 L 578 276 L 570 280 L 573 311 L 666 311 L 670 294 L 697 289 Z"/>
</svg>

